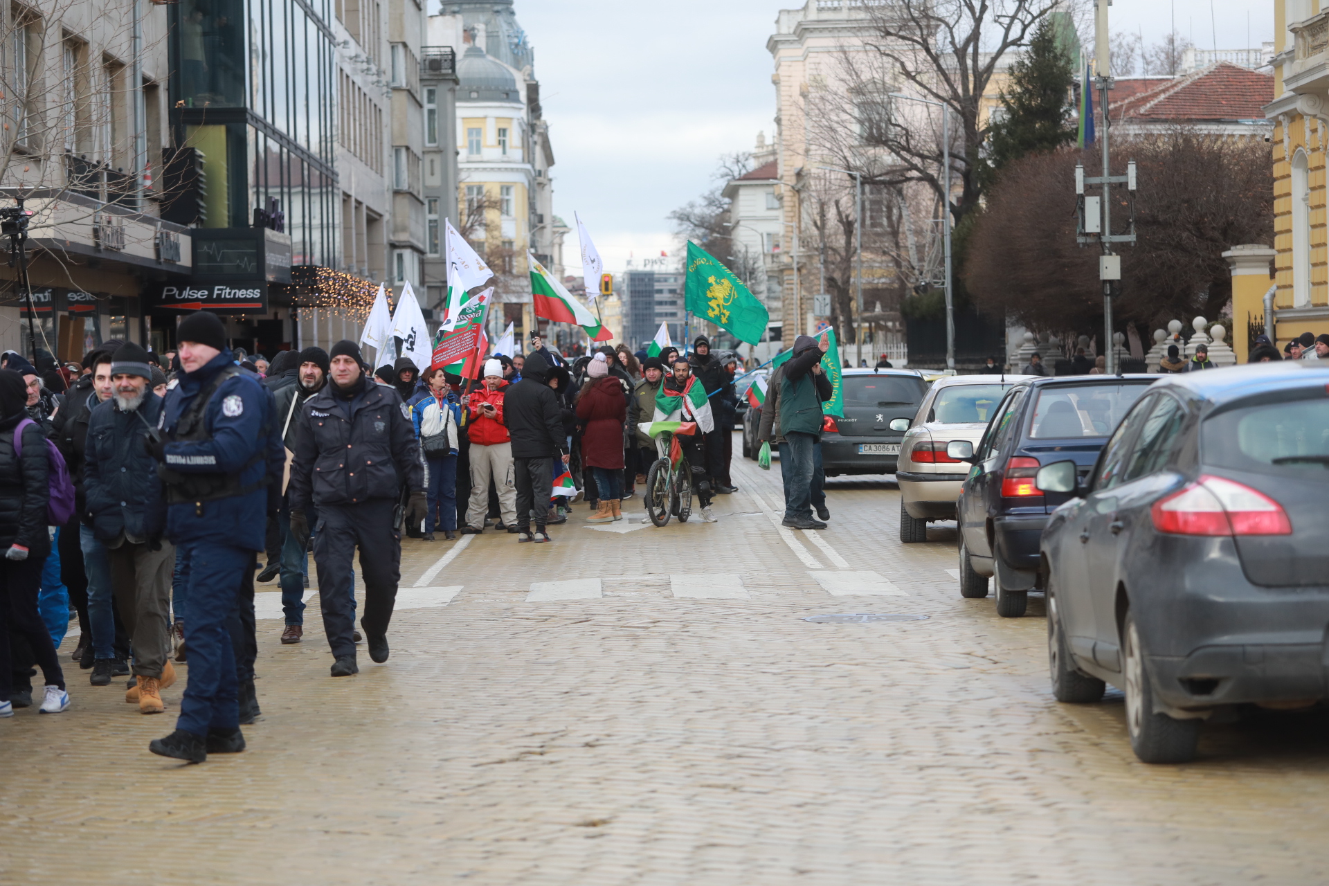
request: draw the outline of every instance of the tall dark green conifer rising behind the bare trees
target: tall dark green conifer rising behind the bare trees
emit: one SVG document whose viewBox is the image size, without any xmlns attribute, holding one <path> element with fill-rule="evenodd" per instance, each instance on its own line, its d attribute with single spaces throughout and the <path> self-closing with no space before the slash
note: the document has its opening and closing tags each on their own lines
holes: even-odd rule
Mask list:
<svg viewBox="0 0 1329 886">
<path fill-rule="evenodd" d="M 983 178 L 990 183 L 1013 159 L 1075 141 L 1075 73 L 1057 23 L 1039 23 L 1029 50 L 1010 66 L 1005 114 L 987 134 Z"/>
</svg>

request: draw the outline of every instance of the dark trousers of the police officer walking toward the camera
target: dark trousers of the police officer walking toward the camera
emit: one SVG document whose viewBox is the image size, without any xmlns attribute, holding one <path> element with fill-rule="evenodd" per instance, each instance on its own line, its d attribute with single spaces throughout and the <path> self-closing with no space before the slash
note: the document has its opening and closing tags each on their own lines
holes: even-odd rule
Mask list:
<svg viewBox="0 0 1329 886">
<path fill-rule="evenodd" d="M 364 618 L 368 638 L 388 632 L 392 607 L 401 580 L 401 535 L 392 527 L 393 498 L 371 498 L 358 505 L 319 505 L 319 531 L 314 541 L 314 565 L 319 570 L 319 602 L 323 631 L 334 656 L 355 655 L 355 580 L 352 558 L 360 549 L 364 574 Z"/>
</svg>

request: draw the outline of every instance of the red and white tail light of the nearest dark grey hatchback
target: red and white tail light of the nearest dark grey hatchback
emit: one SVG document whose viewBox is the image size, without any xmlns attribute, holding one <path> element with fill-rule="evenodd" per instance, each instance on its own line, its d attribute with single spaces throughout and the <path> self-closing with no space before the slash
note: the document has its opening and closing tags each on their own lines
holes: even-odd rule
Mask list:
<svg viewBox="0 0 1329 886">
<path fill-rule="evenodd" d="M 1176 535 L 1290 535 L 1282 505 L 1243 484 L 1203 474 L 1150 509 L 1154 527 Z"/>
</svg>

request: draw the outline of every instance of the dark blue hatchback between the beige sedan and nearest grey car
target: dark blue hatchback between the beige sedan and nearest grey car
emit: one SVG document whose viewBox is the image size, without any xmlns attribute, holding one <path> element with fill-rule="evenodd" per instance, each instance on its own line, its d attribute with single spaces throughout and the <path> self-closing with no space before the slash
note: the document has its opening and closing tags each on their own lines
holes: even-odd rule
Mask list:
<svg viewBox="0 0 1329 886">
<path fill-rule="evenodd" d="M 1065 460 L 1088 474 L 1116 422 L 1156 379 L 1030 379 L 1006 393 L 977 449 L 950 442 L 946 453 L 971 464 L 956 503 L 962 596 L 987 596 L 994 578 L 997 614 L 1025 614 L 1038 578 L 1038 539 L 1049 514 L 1069 498 L 1039 489 L 1034 474 Z"/>
</svg>

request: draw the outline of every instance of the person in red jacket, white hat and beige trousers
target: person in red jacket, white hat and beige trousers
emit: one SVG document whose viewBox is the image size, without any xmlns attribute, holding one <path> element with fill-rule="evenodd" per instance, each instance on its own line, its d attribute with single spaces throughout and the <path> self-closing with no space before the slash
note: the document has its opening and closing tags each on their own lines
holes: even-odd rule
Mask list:
<svg viewBox="0 0 1329 886">
<path fill-rule="evenodd" d="M 465 401 L 466 434 L 470 438 L 470 501 L 462 535 L 485 531 L 489 514 L 489 484 L 498 493 L 498 519 L 509 533 L 517 533 L 517 486 L 512 465 L 512 438 L 505 424 L 504 399 L 512 389 L 502 377 L 502 363 L 485 360 L 484 385 Z"/>
</svg>

